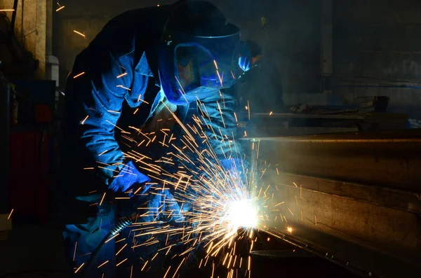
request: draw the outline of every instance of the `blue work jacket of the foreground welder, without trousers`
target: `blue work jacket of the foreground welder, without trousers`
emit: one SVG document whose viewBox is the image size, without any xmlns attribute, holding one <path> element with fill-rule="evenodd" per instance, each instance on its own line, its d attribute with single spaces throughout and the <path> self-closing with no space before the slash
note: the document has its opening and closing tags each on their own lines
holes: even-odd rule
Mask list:
<svg viewBox="0 0 421 278">
<path fill-rule="evenodd" d="M 123 155 L 121 132 L 147 124 L 163 99 L 156 78 L 156 50 L 168 13 L 166 7 L 123 13 L 76 57 L 65 90 L 65 194 L 104 192 L 125 172 L 130 172 L 133 183 L 147 180 Z M 218 158 L 241 157 L 241 148 L 232 140 L 236 134 L 234 96 L 219 92 L 201 103 L 208 113 L 203 118 L 210 127 L 206 135 Z M 188 109 L 189 104 L 179 106 L 179 118 Z"/>
</svg>

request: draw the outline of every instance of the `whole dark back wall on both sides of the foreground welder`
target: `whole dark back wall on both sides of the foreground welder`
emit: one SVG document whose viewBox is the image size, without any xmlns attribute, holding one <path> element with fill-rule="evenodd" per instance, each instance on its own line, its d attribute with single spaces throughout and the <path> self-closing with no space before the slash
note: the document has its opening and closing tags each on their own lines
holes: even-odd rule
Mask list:
<svg viewBox="0 0 421 278">
<path fill-rule="evenodd" d="M 35 1 L 35 0 L 32 0 Z M 41 1 L 41 0 L 39 0 Z M 333 88 L 321 92 L 322 0 L 210 0 L 229 21 L 241 27 L 243 39 L 258 41 L 267 57 L 279 67 L 286 104 L 352 104 L 357 97 L 387 95 L 392 111 L 413 113 L 421 90 L 408 88 Z M 62 79 L 74 57 L 95 37 L 107 20 L 133 8 L 173 1 L 68 1 L 55 13 L 55 53 Z M 63 2 L 64 3 L 64 2 Z M 328 1 L 327 1 L 328 3 Z M 267 18 L 266 28 L 261 18 Z M 420 85 L 421 1 L 333 1 L 333 78 L 335 85 Z M 73 32 L 86 34 L 86 39 Z M 366 76 L 370 78 L 361 78 Z M 62 83 L 64 84 L 64 83 Z"/>
</svg>

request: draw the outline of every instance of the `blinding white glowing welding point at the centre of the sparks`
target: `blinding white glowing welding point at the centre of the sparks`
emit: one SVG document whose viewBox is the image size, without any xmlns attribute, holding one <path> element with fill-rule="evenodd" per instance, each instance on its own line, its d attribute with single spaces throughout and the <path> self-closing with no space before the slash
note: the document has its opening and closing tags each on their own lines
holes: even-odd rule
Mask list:
<svg viewBox="0 0 421 278">
<path fill-rule="evenodd" d="M 232 228 L 254 228 L 258 224 L 258 208 L 252 200 L 234 201 L 229 206 L 228 218 Z"/>
</svg>

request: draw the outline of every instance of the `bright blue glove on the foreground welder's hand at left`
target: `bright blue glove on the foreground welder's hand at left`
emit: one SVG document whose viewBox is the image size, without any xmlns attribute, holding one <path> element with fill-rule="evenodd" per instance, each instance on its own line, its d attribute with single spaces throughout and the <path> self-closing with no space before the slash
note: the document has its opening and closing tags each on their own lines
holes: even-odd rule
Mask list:
<svg viewBox="0 0 421 278">
<path fill-rule="evenodd" d="M 109 184 L 108 189 L 112 190 L 114 193 L 125 193 L 131 188 L 137 190 L 138 186 L 142 186 L 137 193 L 144 194 L 150 188 L 150 185 L 144 184 L 147 181 L 150 181 L 149 177 L 140 173 L 138 168 L 130 161 L 126 163 L 119 174 L 114 177 L 112 183 Z M 133 197 L 133 193 L 130 194 L 130 197 Z"/>
</svg>

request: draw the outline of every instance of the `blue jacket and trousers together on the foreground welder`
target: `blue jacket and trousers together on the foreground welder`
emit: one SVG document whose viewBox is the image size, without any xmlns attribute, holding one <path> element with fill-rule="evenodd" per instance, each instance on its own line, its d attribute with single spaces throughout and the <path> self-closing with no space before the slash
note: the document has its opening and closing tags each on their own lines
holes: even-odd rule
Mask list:
<svg viewBox="0 0 421 278">
<path fill-rule="evenodd" d="M 76 57 L 67 80 L 61 190 L 66 205 L 65 247 L 74 267 L 86 263 L 86 254 L 107 234 L 115 217 L 124 216 L 119 211 L 126 214 L 122 208 L 125 205 L 116 203 L 115 197 L 130 190 L 150 190 L 149 178 L 124 155 L 130 150 L 125 140 L 132 137 L 131 127 L 154 127 L 157 115 L 162 117 L 161 113 L 168 110 L 161 104 L 171 102 L 165 86 L 161 90 L 160 81 L 165 78 L 158 62 L 161 34 L 171 13 L 172 6 L 161 6 L 117 16 Z M 174 105 L 173 110 L 184 120 L 192 104 L 182 104 Z M 221 90 L 206 95 L 201 104 L 208 114 L 203 118 L 209 127 L 205 132 L 218 158 L 240 157 L 239 145 L 227 139 L 236 133 L 234 96 Z M 171 124 L 166 117 L 166 123 Z M 140 153 L 160 158 L 163 150 L 157 141 Z M 166 197 L 171 199 L 170 195 Z M 138 202 L 148 206 L 162 202 L 161 197 L 147 198 L 152 199 Z M 132 233 L 119 244 L 133 244 L 133 240 Z M 98 258 L 98 263 L 109 263 L 91 277 L 102 277 L 104 271 L 106 277 L 114 277 L 112 265 L 119 262 L 114 252 L 119 246 L 114 247 L 113 241 Z"/>
</svg>

